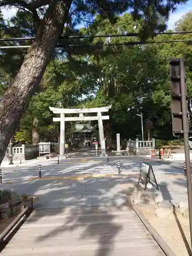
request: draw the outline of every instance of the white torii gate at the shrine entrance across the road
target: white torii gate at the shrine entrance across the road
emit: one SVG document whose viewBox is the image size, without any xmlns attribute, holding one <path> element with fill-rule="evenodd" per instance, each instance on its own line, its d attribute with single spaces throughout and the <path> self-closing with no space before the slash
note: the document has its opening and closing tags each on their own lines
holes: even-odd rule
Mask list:
<svg viewBox="0 0 192 256">
<path fill-rule="evenodd" d="M 98 120 L 99 126 L 99 137 L 101 144 L 101 154 L 106 155 L 105 150 L 105 140 L 104 140 L 104 132 L 103 132 L 103 122 L 102 120 L 109 120 L 109 116 L 102 116 L 102 112 L 108 112 L 111 109 L 112 105 L 104 106 L 102 108 L 91 108 L 91 109 L 60 109 L 60 108 L 52 108 L 49 109 L 54 114 L 60 114 L 60 117 L 54 117 L 54 122 L 60 122 L 60 148 L 59 154 L 63 156 L 65 154 L 65 121 L 93 121 Z M 97 113 L 97 116 L 83 116 L 83 113 Z M 79 114 L 79 117 L 65 117 L 65 114 Z"/>
</svg>

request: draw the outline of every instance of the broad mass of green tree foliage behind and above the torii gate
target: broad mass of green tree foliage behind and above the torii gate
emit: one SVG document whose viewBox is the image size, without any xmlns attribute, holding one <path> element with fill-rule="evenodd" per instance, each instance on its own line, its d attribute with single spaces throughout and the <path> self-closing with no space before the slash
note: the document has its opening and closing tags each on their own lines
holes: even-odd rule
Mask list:
<svg viewBox="0 0 192 256">
<path fill-rule="evenodd" d="M 97 16 L 90 28 L 97 35 L 134 32 L 135 26 L 132 16 L 126 13 L 118 17 L 115 26 L 109 20 Z M 167 38 L 170 39 L 170 36 L 164 35 L 155 40 Z M 138 39 L 117 37 L 112 38 L 111 42 L 129 40 Z M 136 114 L 142 112 L 145 138 L 145 123 L 150 119 L 153 123 L 153 135 L 166 141 L 160 143 L 167 143 L 167 140 L 172 139 L 168 61 L 170 57 L 180 56 L 181 52 L 186 55 L 184 46 L 185 44 L 158 44 L 143 47 L 105 47 L 98 53 L 73 55 L 69 60 L 66 57 L 62 60 L 56 59 L 50 63 L 45 73 L 42 82 L 44 91 L 32 98 L 28 110 L 30 116 L 37 117 L 40 127 L 44 127 L 39 132 L 45 135 L 46 129 L 49 133 L 59 131 L 56 124 L 53 129 L 48 128 L 52 125 L 53 117 L 49 106 L 94 108 L 112 104 L 110 120 L 104 122 L 106 135 L 115 138 L 116 133 L 120 133 L 122 138 L 127 139 L 141 135 L 141 119 Z M 189 55 L 188 59 L 190 63 Z M 190 65 L 187 74 L 191 77 Z M 192 96 L 190 79 L 187 87 L 189 95 Z M 97 125 L 97 122 L 92 124 Z M 74 123 L 67 125 L 67 131 L 74 129 Z"/>
</svg>

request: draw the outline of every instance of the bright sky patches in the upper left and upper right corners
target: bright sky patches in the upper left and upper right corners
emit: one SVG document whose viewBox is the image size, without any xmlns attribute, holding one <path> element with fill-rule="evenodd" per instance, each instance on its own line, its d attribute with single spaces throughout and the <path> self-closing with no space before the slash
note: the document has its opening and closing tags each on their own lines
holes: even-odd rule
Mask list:
<svg viewBox="0 0 192 256">
<path fill-rule="evenodd" d="M 172 29 L 177 20 L 179 20 L 183 15 L 185 15 L 189 11 L 192 11 L 192 0 L 189 0 L 186 5 L 179 5 L 176 12 L 170 14 L 170 18 L 167 24 L 168 29 Z M 8 19 L 11 16 L 13 16 L 15 12 L 16 9 L 14 8 L 2 10 L 5 19 Z"/>
</svg>

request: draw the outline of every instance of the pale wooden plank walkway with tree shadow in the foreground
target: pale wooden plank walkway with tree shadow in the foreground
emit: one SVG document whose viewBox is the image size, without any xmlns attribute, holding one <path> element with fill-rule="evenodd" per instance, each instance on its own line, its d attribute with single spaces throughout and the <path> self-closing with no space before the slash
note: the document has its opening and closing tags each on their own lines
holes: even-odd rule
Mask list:
<svg viewBox="0 0 192 256">
<path fill-rule="evenodd" d="M 123 205 L 35 210 L 1 252 L 45 254 L 165 256 L 133 209 Z"/>
</svg>

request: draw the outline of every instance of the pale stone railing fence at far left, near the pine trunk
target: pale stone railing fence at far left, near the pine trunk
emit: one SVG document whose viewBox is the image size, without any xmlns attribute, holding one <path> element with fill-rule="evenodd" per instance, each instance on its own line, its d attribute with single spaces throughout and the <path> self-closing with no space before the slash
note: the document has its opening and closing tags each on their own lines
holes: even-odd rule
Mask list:
<svg viewBox="0 0 192 256">
<path fill-rule="evenodd" d="M 27 145 L 13 147 L 13 163 L 14 161 L 30 160 L 38 157 L 39 146 L 38 145 Z M 3 161 L 10 161 L 10 147 L 7 148 Z"/>
</svg>

